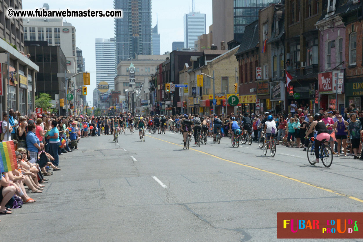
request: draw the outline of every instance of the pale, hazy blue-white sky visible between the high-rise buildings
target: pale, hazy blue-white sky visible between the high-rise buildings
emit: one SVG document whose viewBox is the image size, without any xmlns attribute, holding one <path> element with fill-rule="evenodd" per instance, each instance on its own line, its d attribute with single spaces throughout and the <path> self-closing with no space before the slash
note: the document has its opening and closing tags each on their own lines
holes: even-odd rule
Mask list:
<svg viewBox="0 0 363 242">
<path fill-rule="evenodd" d="M 113 0 L 23 0 L 23 9 L 41 8 L 48 3 L 49 10 L 104 10 L 113 9 Z M 189 3 L 189 4 L 188 4 Z M 172 51 L 172 42 L 184 41 L 183 16 L 192 11 L 192 0 L 152 0 L 152 27 L 156 24 L 158 13 L 158 32 L 160 33 L 160 54 Z M 212 24 L 212 0 L 195 0 L 195 12 L 206 14 L 207 32 Z M 113 18 L 65 18 L 76 28 L 76 45 L 83 51 L 86 71 L 90 72 L 91 85 L 87 88 L 87 101 L 93 100 L 96 87 L 95 38 L 114 38 Z"/>
</svg>

